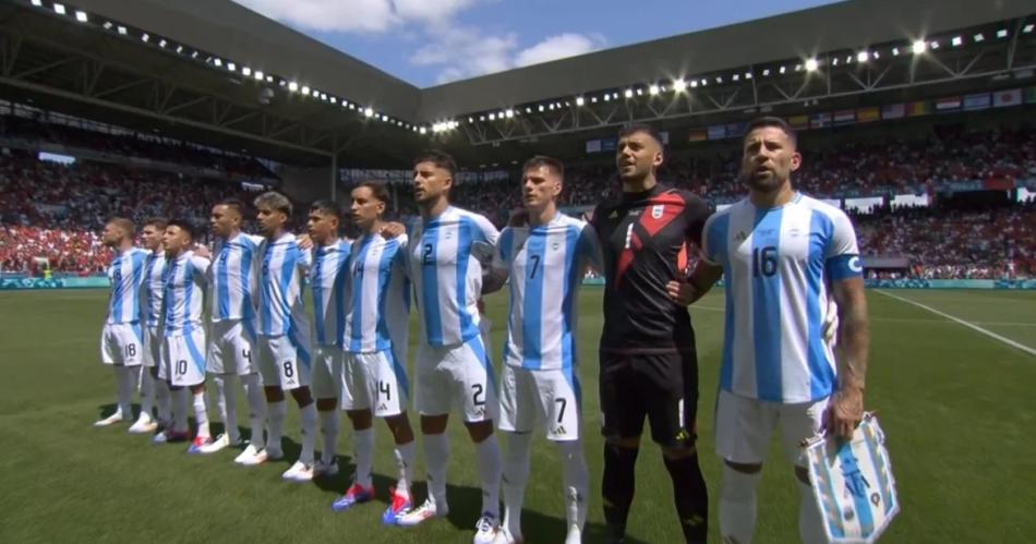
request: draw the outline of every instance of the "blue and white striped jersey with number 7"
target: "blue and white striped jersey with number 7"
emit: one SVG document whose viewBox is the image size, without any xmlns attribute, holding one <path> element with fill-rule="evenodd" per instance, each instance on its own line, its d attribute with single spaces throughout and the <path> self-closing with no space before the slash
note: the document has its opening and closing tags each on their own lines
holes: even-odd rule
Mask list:
<svg viewBox="0 0 1036 544">
<path fill-rule="evenodd" d="M 506 364 L 534 371 L 576 366 L 578 293 L 590 265 L 601 268 L 597 233 L 561 211 L 546 225 L 504 229 L 493 268 L 510 277 Z"/>
</svg>

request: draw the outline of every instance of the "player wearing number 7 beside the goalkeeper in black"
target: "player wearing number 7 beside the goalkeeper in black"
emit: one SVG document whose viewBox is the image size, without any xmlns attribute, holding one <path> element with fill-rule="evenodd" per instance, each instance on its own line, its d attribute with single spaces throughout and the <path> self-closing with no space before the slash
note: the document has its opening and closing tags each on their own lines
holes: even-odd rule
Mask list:
<svg viewBox="0 0 1036 544">
<path fill-rule="evenodd" d="M 497 543 L 522 541 L 521 505 L 529 479 L 531 432 L 540 426 L 557 446 L 568 534 L 582 542 L 589 474 L 579 427 L 582 396 L 576 355 L 577 301 L 587 267 L 600 267 L 592 228 L 557 210 L 565 176 L 559 160 L 537 156 L 522 176 L 528 226 L 501 233 L 483 292 L 510 277 L 510 315 L 501 379 L 499 428 L 504 454 L 504 527 Z"/>
</svg>

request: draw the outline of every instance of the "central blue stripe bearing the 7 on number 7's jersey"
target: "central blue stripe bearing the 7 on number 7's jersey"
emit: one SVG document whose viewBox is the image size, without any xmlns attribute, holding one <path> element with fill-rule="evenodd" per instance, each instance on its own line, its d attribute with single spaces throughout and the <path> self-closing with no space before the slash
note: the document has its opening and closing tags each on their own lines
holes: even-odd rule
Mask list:
<svg viewBox="0 0 1036 544">
<path fill-rule="evenodd" d="M 526 240 L 526 292 L 521 301 L 521 366 L 539 370 L 543 365 L 543 261 L 546 258 L 547 227 L 529 231 Z"/>
</svg>

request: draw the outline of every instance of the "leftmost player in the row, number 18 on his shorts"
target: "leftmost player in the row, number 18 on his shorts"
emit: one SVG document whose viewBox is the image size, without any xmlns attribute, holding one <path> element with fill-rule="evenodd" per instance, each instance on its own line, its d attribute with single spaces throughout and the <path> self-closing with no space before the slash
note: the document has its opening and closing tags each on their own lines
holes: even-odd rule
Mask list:
<svg viewBox="0 0 1036 544">
<path fill-rule="evenodd" d="M 116 411 L 94 423 L 96 427 L 133 421 L 133 388 L 140 379 L 144 358 L 141 330 L 141 282 L 147 252 L 133 246 L 133 221 L 122 217 L 110 219 L 101 232 L 101 242 L 115 250 L 108 265 L 111 294 L 108 318 L 100 335 L 100 360 L 116 374 Z"/>
</svg>

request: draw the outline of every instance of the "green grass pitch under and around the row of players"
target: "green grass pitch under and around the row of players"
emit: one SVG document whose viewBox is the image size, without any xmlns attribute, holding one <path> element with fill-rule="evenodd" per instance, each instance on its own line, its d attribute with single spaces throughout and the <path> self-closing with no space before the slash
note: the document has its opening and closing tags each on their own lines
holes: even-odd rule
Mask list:
<svg viewBox="0 0 1036 544">
<path fill-rule="evenodd" d="M 1036 292 L 895 294 L 1036 348 Z M 280 480 L 298 452 L 298 412 L 290 402 L 289 460 L 252 470 L 236 467 L 230 451 L 189 457 L 185 445 L 153 447 L 147 437 L 125 434 L 124 425 L 93 428 L 115 395 L 113 377 L 98 353 L 106 297 L 104 291 L 0 293 L 0 541 L 470 542 L 481 496 L 473 450 L 456 415 L 449 431 L 450 515 L 409 530 L 380 522 L 395 468 L 384 424 L 376 427 L 381 501 L 346 513 L 330 510 L 351 469 L 345 418 L 342 471 L 304 485 Z M 591 471 L 588 543 L 600 542 L 603 534 L 600 297 L 600 289 L 588 288 L 580 299 L 582 431 Z M 878 292 L 871 291 L 869 301 L 872 349 L 866 401 L 878 410 L 888 435 L 902 503 L 884 542 L 1036 537 L 1036 358 Z M 496 353 L 506 306 L 502 295 L 487 303 Z M 713 452 L 712 412 L 722 294 L 710 294 L 692 316 L 701 374 L 699 450 L 711 496 L 711 539 L 719 542 L 720 463 Z M 246 423 L 243 406 L 238 413 L 239 424 Z M 423 498 L 424 471 L 418 462 L 415 491 Z M 646 444 L 637 469 L 629 542 L 679 542 L 670 481 L 655 446 Z M 554 451 L 540 437 L 523 515 L 527 542 L 563 539 L 559 472 Z M 774 443 L 760 487 L 756 542 L 797 541 L 797 504 L 791 469 Z"/>
</svg>

